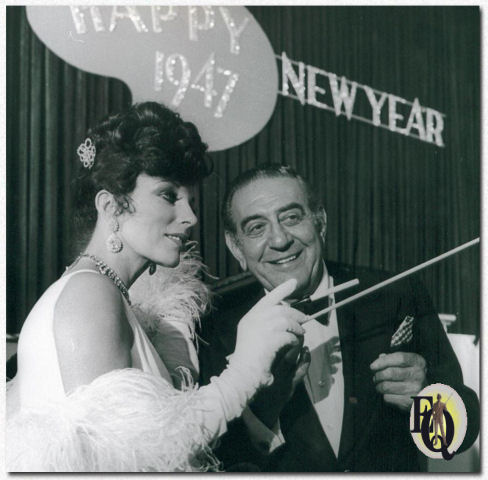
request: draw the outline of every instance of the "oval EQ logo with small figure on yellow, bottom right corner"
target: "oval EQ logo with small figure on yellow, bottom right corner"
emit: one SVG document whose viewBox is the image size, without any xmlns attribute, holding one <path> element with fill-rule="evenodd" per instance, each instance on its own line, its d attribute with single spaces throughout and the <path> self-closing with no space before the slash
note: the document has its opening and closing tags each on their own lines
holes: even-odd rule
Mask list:
<svg viewBox="0 0 488 480">
<path fill-rule="evenodd" d="M 463 443 L 467 424 L 466 407 L 449 385 L 433 383 L 413 399 L 410 433 L 430 458 L 450 460 Z"/>
</svg>

